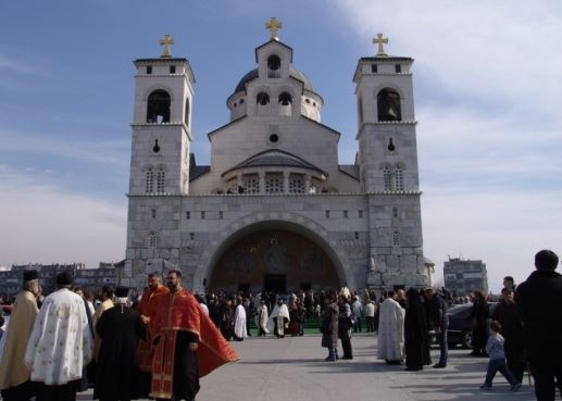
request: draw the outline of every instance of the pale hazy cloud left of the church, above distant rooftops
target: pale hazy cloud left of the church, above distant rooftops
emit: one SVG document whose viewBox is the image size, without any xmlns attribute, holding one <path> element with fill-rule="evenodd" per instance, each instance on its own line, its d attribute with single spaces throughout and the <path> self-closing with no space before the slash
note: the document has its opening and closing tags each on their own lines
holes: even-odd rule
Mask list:
<svg viewBox="0 0 562 401">
<path fill-rule="evenodd" d="M 0 165 L 0 265 L 118 261 L 126 205 L 63 192 Z"/>
</svg>

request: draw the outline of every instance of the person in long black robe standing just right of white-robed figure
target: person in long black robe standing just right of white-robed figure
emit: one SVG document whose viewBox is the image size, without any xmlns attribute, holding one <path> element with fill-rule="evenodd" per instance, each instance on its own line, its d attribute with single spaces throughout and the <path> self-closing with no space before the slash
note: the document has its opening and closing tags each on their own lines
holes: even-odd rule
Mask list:
<svg viewBox="0 0 562 401">
<path fill-rule="evenodd" d="M 421 371 L 424 368 L 427 343 L 425 308 L 416 289 L 410 288 L 405 296 L 408 300 L 404 317 L 405 369 Z"/>
</svg>

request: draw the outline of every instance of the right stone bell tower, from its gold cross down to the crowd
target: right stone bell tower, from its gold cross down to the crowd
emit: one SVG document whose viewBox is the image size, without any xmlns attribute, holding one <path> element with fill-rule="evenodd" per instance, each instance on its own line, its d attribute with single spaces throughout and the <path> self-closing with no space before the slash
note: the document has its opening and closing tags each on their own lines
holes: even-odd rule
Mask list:
<svg viewBox="0 0 562 401">
<path fill-rule="evenodd" d="M 427 285 L 422 250 L 420 180 L 412 85 L 413 59 L 388 55 L 378 34 L 375 57 L 361 58 L 358 101 L 359 166 L 370 218 L 369 285 Z"/>
</svg>

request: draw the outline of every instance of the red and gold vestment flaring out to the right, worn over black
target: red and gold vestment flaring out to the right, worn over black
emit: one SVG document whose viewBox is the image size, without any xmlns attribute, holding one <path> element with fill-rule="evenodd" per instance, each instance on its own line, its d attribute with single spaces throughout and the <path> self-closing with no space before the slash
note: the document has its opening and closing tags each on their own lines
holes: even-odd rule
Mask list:
<svg viewBox="0 0 562 401">
<path fill-rule="evenodd" d="M 198 375 L 202 377 L 218 366 L 238 360 L 214 323 L 187 290 L 159 295 L 154 298 L 155 315 L 151 330 L 158 344 L 152 362 L 152 392 L 154 398 L 172 398 L 174 354 L 178 331 L 189 331 L 199 339 L 197 350 Z"/>
</svg>

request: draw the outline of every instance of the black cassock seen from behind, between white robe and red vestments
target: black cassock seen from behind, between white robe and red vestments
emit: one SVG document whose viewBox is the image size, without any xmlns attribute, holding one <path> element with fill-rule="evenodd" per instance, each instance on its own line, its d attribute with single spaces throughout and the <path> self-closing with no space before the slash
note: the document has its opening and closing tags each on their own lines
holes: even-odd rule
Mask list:
<svg viewBox="0 0 562 401">
<path fill-rule="evenodd" d="M 145 337 L 140 314 L 115 305 L 96 325 L 101 337 L 93 399 L 128 401 L 140 397 L 138 340 Z"/>
</svg>

